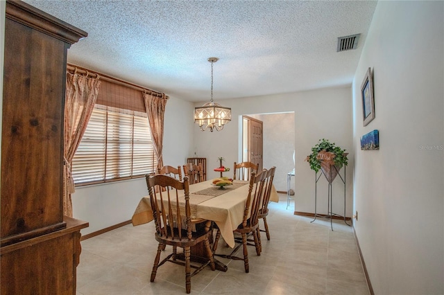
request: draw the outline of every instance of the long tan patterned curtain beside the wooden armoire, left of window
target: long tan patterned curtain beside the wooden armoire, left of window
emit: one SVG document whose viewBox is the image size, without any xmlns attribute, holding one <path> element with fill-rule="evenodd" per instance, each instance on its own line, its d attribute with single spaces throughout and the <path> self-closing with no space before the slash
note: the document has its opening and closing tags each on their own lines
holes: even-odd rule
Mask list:
<svg viewBox="0 0 444 295">
<path fill-rule="evenodd" d="M 74 193 L 74 179 L 71 175 L 71 162 L 76 153 L 91 117 L 99 93 L 99 75 L 67 73 L 67 93 L 65 98 L 65 171 L 63 174 L 63 214 L 72 217 L 71 194 Z"/>
</svg>

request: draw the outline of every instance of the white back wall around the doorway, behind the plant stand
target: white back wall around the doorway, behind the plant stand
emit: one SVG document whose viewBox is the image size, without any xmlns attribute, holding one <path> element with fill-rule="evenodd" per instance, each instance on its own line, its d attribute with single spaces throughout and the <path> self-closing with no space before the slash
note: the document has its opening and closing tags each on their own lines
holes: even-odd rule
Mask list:
<svg viewBox="0 0 444 295">
<path fill-rule="evenodd" d="M 305 157 L 320 138 L 329 138 L 350 152 L 347 173 L 347 216 L 352 215 L 352 105 L 351 89 L 330 88 L 298 93 L 275 94 L 216 101 L 232 108 L 232 121 L 221 132 L 201 132 L 194 127 L 194 141 L 199 157 L 207 158 L 208 177 L 217 177 L 210 168 L 217 165 L 217 157 L 224 157 L 227 163 L 241 160 L 238 142 L 241 140 L 241 116 L 243 114 L 266 114 L 294 111 L 294 147 L 296 149 L 296 190 L 295 211 L 314 213 L 314 172 L 310 170 Z M 196 104 L 198 106 L 201 104 Z M 279 132 L 279 130 L 277 130 Z M 277 156 L 280 157 L 280 156 Z M 277 160 L 278 162 L 280 160 Z M 271 162 L 270 162 L 271 163 Z M 213 165 L 213 166 L 212 166 Z M 277 167 L 277 169 L 284 169 Z M 283 171 L 285 181 L 287 172 Z M 343 214 L 343 185 L 334 183 L 334 208 Z M 318 213 L 327 211 L 327 184 L 318 189 Z"/>
</svg>

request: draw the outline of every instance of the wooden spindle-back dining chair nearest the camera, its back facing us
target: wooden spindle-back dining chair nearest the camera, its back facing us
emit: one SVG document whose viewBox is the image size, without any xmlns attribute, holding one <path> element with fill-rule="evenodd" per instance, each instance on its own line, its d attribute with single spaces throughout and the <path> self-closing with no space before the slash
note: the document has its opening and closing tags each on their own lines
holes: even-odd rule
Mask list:
<svg viewBox="0 0 444 295">
<path fill-rule="evenodd" d="M 168 175 L 146 175 L 146 186 L 150 195 L 151 210 L 155 222 L 155 240 L 159 242 L 155 256 L 151 282 L 157 274 L 157 268 L 165 262 L 173 262 L 185 266 L 185 287 L 191 292 L 191 277 L 198 274 L 207 265 L 215 269 L 212 249 L 210 248 L 211 224 L 208 220 L 192 220 L 189 205 L 189 181 L 184 177 L 183 182 Z M 173 190 L 162 188 L 171 187 Z M 184 193 L 180 194 L 180 190 Z M 179 195 L 184 195 L 183 199 Z M 203 225 L 203 226 L 196 226 Z M 192 228 L 195 231 L 192 231 Z M 203 242 L 207 260 L 200 265 L 191 265 L 191 247 Z M 166 245 L 173 246 L 173 253 L 161 262 L 160 255 Z M 177 253 L 177 247 L 183 248 L 184 253 Z M 191 273 L 191 268 L 195 270 Z"/>
</svg>

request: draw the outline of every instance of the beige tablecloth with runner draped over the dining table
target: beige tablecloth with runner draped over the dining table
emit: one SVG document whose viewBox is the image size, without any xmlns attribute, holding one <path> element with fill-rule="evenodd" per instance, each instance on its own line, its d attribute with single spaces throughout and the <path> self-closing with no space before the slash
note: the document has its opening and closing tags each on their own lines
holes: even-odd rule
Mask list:
<svg viewBox="0 0 444 295">
<path fill-rule="evenodd" d="M 234 247 L 233 230 L 241 224 L 244 217 L 249 181 L 234 180 L 229 186 L 214 186 L 212 180 L 202 181 L 189 186 L 191 218 L 210 220 L 220 229 L 223 240 Z M 185 192 L 179 191 L 179 197 Z M 278 202 L 275 187 L 271 188 L 271 202 Z M 149 195 L 142 197 L 131 219 L 133 226 L 146 224 L 153 220 Z"/>
</svg>

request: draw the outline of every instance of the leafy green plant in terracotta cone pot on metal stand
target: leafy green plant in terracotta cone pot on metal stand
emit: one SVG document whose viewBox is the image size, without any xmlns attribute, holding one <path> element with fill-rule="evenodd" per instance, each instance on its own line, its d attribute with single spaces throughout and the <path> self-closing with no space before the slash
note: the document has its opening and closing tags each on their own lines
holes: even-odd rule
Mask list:
<svg viewBox="0 0 444 295">
<path fill-rule="evenodd" d="M 331 184 L 339 170 L 343 166 L 348 165 L 347 155 L 348 152 L 345 152 L 345 149 L 322 138 L 314 147 L 311 147 L 311 154 L 307 156 L 307 161 L 311 170 L 314 170 L 316 173 L 322 170 Z M 335 166 L 336 169 L 332 169 L 332 166 Z"/>
</svg>

